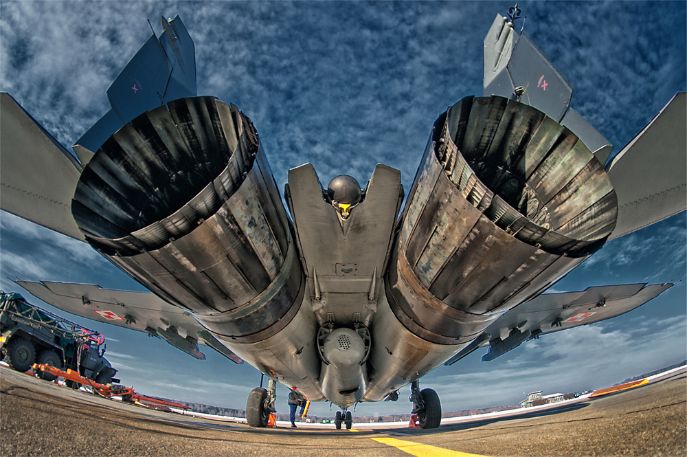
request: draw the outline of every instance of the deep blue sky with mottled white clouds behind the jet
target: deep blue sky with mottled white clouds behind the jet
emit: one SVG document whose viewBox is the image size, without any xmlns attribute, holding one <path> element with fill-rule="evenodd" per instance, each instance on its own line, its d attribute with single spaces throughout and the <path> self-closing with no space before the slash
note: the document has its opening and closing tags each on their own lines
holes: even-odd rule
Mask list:
<svg viewBox="0 0 687 457">
<path fill-rule="evenodd" d="M 105 90 L 150 36 L 146 19 L 159 34 L 160 16 L 179 14 L 195 43 L 199 95 L 233 102 L 253 120 L 280 188 L 289 168 L 306 162 L 323 183 L 346 173 L 363 185 L 381 162 L 401 170 L 407 193 L 437 115 L 464 96 L 482 95 L 482 41 L 510 6 L 2 0 L 0 90 L 69 147 L 109 109 Z M 607 137 L 613 153 L 686 89 L 684 1 L 519 6 L 526 34 L 574 88 L 572 107 Z M 144 290 L 87 245 L 5 212 L 0 218 L 4 291 L 23 291 L 8 278 Z M 451 411 L 517 403 L 533 390 L 602 388 L 682 361 L 686 225 L 683 212 L 612 241 L 554 286 L 677 282 L 649 304 L 488 363 L 480 361 L 486 349 L 475 351 L 431 372 L 421 386 L 436 388 Z M 257 370 L 210 348 L 207 360 L 196 361 L 159 339 L 72 318 L 106 336 L 122 382 L 140 392 L 245 408 L 260 382 Z M 398 402 L 361 405 L 355 414 L 409 412 L 408 394 L 403 388 Z M 278 396 L 286 412 L 286 388 Z M 329 405 L 313 412 L 330 414 Z"/>
</svg>

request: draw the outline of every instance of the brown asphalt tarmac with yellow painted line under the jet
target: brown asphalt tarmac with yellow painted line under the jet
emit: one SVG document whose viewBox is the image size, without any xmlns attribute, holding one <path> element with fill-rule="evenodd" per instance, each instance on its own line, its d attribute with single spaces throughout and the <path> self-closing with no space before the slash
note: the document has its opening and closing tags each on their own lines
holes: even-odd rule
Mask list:
<svg viewBox="0 0 687 457">
<path fill-rule="evenodd" d="M 2 456 L 685 456 L 687 380 L 441 425 L 253 429 L 148 410 L 0 367 Z"/>
</svg>

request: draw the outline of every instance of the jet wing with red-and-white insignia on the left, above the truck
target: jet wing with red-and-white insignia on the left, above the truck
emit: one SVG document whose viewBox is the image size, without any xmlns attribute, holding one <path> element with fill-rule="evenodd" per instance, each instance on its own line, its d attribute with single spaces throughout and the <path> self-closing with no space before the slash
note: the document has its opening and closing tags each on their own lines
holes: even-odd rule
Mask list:
<svg viewBox="0 0 687 457">
<path fill-rule="evenodd" d="M 153 293 L 102 289 L 98 285 L 70 282 L 16 281 L 16 284 L 63 311 L 146 332 L 165 339 L 196 359 L 205 359 L 205 355 L 196 346 L 201 343 L 207 344 L 236 364 L 243 364 L 238 355 L 221 344 L 189 313 Z"/>
</svg>

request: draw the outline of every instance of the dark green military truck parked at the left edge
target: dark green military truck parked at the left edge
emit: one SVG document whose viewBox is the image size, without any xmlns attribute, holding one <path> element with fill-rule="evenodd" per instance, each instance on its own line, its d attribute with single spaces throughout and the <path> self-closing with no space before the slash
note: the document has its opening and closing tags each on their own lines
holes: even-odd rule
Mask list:
<svg viewBox="0 0 687 457">
<path fill-rule="evenodd" d="M 30 304 L 19 293 L 0 291 L 0 356 L 10 368 L 25 372 L 34 363 L 47 364 L 101 384 L 118 383 L 117 370 L 103 357 L 105 346 L 100 333 Z"/>
</svg>

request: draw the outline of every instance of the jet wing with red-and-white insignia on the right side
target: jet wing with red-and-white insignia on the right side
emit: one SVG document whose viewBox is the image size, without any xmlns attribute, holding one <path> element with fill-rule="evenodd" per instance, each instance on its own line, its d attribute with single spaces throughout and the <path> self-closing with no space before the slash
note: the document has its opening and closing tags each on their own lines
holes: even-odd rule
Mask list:
<svg viewBox="0 0 687 457">
<path fill-rule="evenodd" d="M 632 311 L 672 286 L 669 283 L 627 284 L 540 295 L 504 313 L 444 365 L 452 365 L 473 350 L 487 345 L 489 352 L 482 360 L 493 360 L 528 339 L 593 324 Z"/>
</svg>

